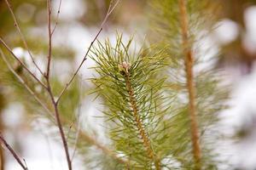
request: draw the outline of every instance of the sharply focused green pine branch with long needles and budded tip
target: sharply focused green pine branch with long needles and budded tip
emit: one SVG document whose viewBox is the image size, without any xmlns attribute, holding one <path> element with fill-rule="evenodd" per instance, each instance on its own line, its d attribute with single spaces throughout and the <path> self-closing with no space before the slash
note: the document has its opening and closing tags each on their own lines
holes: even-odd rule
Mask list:
<svg viewBox="0 0 256 170">
<path fill-rule="evenodd" d="M 160 169 L 166 147 L 158 143 L 167 140 L 161 138 L 166 128 L 160 128 L 167 111 L 160 106 L 165 103 L 161 95 L 165 77 L 157 80 L 154 75 L 165 66 L 166 56 L 162 51 L 154 54 L 152 48 L 132 53 L 131 41 L 125 44 L 118 36 L 114 46 L 98 42 L 91 58 L 99 77 L 92 81 L 108 106 L 103 113 L 110 138 L 116 150 L 128 158 L 128 168 Z"/>
</svg>

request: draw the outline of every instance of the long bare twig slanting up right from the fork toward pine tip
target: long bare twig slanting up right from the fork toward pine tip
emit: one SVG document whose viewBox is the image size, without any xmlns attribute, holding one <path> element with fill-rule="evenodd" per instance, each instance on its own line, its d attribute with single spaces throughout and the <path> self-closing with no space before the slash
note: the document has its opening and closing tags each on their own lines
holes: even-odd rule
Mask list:
<svg viewBox="0 0 256 170">
<path fill-rule="evenodd" d="M 108 18 L 109 18 L 109 16 L 110 16 L 110 14 L 113 13 L 113 9 L 116 8 L 116 6 L 118 5 L 119 1 L 120 1 L 120 0 L 117 0 L 117 2 L 114 3 L 113 7 L 112 7 L 113 1 L 111 1 L 110 5 L 109 5 L 109 8 L 108 8 L 108 12 L 107 12 L 107 14 L 106 14 L 104 20 L 102 21 L 102 25 L 101 25 L 99 31 L 97 31 L 97 33 L 96 33 L 96 37 L 94 37 L 94 39 L 92 40 L 92 42 L 90 42 L 90 46 L 89 46 L 89 48 L 87 49 L 87 51 L 86 51 L 86 53 L 85 53 L 85 55 L 84 55 L 84 58 L 83 58 L 83 60 L 81 61 L 79 67 L 78 67 L 77 70 L 73 73 L 73 76 L 69 79 L 69 81 L 66 83 L 65 88 L 62 89 L 61 94 L 59 95 L 58 99 L 56 100 L 57 103 L 58 103 L 59 100 L 61 99 L 61 96 L 66 92 L 66 90 L 67 90 L 67 88 L 70 86 L 71 82 L 73 82 L 74 77 L 76 77 L 76 75 L 78 74 L 80 68 L 81 68 L 82 65 L 84 64 L 84 61 L 87 59 L 87 55 L 88 55 L 89 52 L 90 52 L 90 48 L 92 47 L 92 45 L 94 44 L 94 42 L 96 42 L 97 37 L 99 37 L 100 33 L 101 33 L 102 30 L 103 30 L 103 26 L 106 24 L 106 22 L 107 22 L 107 20 L 108 20 Z"/>
</svg>

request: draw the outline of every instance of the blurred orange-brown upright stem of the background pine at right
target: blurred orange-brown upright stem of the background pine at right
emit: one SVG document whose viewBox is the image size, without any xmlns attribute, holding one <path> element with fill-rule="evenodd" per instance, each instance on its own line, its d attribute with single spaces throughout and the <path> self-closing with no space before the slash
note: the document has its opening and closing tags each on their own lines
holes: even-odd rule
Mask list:
<svg viewBox="0 0 256 170">
<path fill-rule="evenodd" d="M 191 126 L 191 139 L 193 144 L 193 155 L 195 159 L 195 169 L 201 169 L 201 147 L 198 132 L 198 123 L 195 108 L 195 88 L 194 88 L 194 54 L 189 47 L 189 21 L 185 0 L 179 0 L 180 22 L 183 36 L 183 54 L 185 56 L 185 67 L 187 77 L 187 88 L 189 91 L 189 116 Z"/>
</svg>

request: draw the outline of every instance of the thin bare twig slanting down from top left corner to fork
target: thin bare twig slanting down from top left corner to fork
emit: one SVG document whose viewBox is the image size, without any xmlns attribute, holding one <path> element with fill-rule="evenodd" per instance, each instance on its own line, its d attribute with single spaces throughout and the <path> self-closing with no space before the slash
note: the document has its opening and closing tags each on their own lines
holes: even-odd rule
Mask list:
<svg viewBox="0 0 256 170">
<path fill-rule="evenodd" d="M 20 31 L 20 26 L 19 26 L 19 24 L 18 24 L 18 22 L 16 20 L 15 13 L 14 13 L 14 11 L 13 11 L 10 3 L 9 3 L 9 0 L 5 0 L 5 2 L 7 4 L 7 6 L 8 6 L 8 8 L 9 8 L 9 12 L 12 14 L 12 17 L 13 17 L 13 19 L 15 21 L 15 27 L 16 27 L 17 31 L 19 32 L 19 34 L 20 34 L 21 40 L 22 40 L 22 42 L 23 42 L 23 44 L 24 44 L 24 46 L 25 46 L 25 48 L 26 48 L 30 58 L 32 59 L 32 63 L 37 67 L 38 71 L 40 71 L 40 73 L 44 76 L 43 71 L 39 68 L 39 66 L 37 65 L 36 61 L 33 59 L 32 53 L 31 53 L 31 51 L 28 48 L 28 45 L 26 43 L 26 39 L 25 39 L 24 35 L 22 34 L 22 32 Z"/>
</svg>

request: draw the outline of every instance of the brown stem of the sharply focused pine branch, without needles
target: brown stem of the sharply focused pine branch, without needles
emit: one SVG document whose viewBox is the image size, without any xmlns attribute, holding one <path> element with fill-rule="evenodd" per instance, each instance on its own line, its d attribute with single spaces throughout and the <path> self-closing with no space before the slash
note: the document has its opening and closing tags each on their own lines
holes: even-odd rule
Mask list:
<svg viewBox="0 0 256 170">
<path fill-rule="evenodd" d="M 150 139 L 148 139 L 148 135 L 145 132 L 145 129 L 143 127 L 143 122 L 141 121 L 140 117 L 138 116 L 137 102 L 134 97 L 134 90 L 131 86 L 130 72 L 128 71 L 127 68 L 125 68 L 125 83 L 126 83 L 126 89 L 129 94 L 129 99 L 130 99 L 129 102 L 131 103 L 133 116 L 135 118 L 135 122 L 137 124 L 137 128 L 140 133 L 140 136 L 143 139 L 143 145 L 144 145 L 145 149 L 147 150 L 148 157 L 154 161 L 155 169 L 160 170 L 160 160 L 155 155 L 154 150 L 152 149 Z"/>
</svg>

